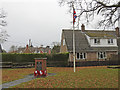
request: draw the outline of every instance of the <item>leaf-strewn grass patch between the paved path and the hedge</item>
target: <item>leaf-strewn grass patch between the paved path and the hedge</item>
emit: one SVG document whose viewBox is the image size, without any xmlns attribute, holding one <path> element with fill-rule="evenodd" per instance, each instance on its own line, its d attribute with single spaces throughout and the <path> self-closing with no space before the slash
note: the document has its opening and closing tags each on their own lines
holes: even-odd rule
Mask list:
<svg viewBox="0 0 120 90">
<path fill-rule="evenodd" d="M 34 72 L 34 68 L 2 69 L 2 83 L 18 80 Z"/>
</svg>

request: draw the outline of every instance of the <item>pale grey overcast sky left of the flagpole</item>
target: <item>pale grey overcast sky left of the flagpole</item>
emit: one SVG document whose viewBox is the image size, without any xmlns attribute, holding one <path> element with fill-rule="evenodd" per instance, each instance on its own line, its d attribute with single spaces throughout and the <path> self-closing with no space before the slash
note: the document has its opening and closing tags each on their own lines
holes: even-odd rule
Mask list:
<svg viewBox="0 0 120 90">
<path fill-rule="evenodd" d="M 10 35 L 2 44 L 7 51 L 11 45 L 26 46 L 29 39 L 33 46 L 51 46 L 61 41 L 62 29 L 72 28 L 72 15 L 58 0 L 3 0 L 2 8 L 8 23 L 4 29 Z"/>
</svg>

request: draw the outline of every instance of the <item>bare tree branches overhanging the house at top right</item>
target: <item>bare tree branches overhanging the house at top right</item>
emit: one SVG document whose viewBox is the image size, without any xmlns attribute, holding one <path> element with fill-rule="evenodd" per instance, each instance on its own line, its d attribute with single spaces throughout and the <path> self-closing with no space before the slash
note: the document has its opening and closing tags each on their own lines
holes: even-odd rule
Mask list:
<svg viewBox="0 0 120 90">
<path fill-rule="evenodd" d="M 120 18 L 117 12 L 120 8 L 120 0 L 60 0 L 59 3 L 60 5 L 68 4 L 70 12 L 74 4 L 78 10 L 79 19 L 84 17 L 87 23 L 98 15 L 102 16 L 98 22 L 100 27 L 114 26 Z"/>
</svg>

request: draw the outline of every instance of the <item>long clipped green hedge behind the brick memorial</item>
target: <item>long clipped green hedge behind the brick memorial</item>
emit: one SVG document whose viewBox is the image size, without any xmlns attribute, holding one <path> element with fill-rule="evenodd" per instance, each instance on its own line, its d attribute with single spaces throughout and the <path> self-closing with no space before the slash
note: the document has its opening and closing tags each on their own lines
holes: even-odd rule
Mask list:
<svg viewBox="0 0 120 90">
<path fill-rule="evenodd" d="M 2 62 L 26 63 L 35 62 L 34 58 L 47 58 L 47 66 L 67 66 L 68 53 L 59 54 L 8 54 L 2 53 Z"/>
</svg>

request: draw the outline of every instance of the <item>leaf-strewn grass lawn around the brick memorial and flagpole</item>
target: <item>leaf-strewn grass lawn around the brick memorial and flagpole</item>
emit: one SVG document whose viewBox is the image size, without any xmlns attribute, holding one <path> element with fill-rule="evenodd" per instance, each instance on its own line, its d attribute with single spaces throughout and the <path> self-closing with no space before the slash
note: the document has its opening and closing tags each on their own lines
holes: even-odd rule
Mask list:
<svg viewBox="0 0 120 90">
<path fill-rule="evenodd" d="M 12 88 L 118 88 L 118 70 L 120 69 L 111 69 L 107 68 L 107 66 L 77 67 L 75 73 L 73 68 L 70 67 L 48 67 L 47 70 L 48 73 L 56 73 L 56 75 L 37 78 Z M 7 74 L 11 77 L 6 75 L 10 80 L 11 78 L 17 79 L 25 74 L 33 73 L 34 69 L 5 71 L 10 71 Z M 14 75 L 15 72 L 17 72 L 16 75 Z M 13 78 L 12 75 L 16 77 Z M 3 80 L 7 81 L 4 78 Z"/>
</svg>

